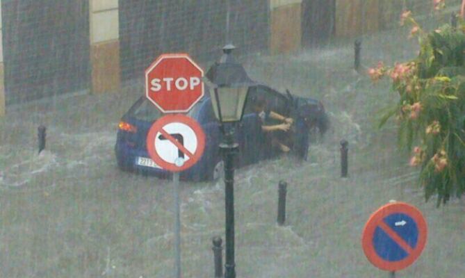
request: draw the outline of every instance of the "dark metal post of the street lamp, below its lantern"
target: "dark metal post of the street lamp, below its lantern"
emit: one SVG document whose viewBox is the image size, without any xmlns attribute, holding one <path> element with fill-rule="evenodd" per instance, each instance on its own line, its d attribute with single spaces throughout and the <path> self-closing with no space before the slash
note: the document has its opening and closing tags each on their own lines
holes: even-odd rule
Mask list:
<svg viewBox="0 0 465 278">
<path fill-rule="evenodd" d="M 225 134 L 225 143 L 220 145 L 225 161 L 225 212 L 226 212 L 226 263 L 225 278 L 236 278 L 234 262 L 234 155 L 238 144 L 233 141 L 233 134 Z"/>
</svg>

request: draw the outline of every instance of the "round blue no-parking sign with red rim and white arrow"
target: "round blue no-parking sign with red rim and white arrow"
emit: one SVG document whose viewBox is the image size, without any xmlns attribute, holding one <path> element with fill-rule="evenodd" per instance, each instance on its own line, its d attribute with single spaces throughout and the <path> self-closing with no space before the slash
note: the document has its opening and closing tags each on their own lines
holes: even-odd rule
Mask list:
<svg viewBox="0 0 465 278">
<path fill-rule="evenodd" d="M 365 224 L 361 244 L 377 268 L 398 271 L 418 259 L 427 240 L 427 224 L 420 211 L 402 202 L 386 204 Z"/>
</svg>

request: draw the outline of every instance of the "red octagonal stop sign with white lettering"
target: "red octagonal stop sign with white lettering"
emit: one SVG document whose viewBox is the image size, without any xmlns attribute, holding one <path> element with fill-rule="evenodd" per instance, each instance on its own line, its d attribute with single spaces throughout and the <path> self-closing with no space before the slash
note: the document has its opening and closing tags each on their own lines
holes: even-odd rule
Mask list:
<svg viewBox="0 0 465 278">
<path fill-rule="evenodd" d="M 187 113 L 204 96 L 203 76 L 187 54 L 162 54 L 145 70 L 145 95 L 163 113 Z"/>
</svg>

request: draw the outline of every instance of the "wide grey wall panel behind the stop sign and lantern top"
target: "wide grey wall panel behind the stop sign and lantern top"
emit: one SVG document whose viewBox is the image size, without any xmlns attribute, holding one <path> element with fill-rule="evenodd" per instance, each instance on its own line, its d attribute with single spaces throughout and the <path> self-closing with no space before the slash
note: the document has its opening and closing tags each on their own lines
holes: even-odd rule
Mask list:
<svg viewBox="0 0 465 278">
<path fill-rule="evenodd" d="M 268 52 L 268 0 L 229 0 L 229 38 L 236 54 Z M 122 80 L 141 78 L 163 53 L 217 58 L 227 40 L 227 0 L 120 0 Z"/>
</svg>

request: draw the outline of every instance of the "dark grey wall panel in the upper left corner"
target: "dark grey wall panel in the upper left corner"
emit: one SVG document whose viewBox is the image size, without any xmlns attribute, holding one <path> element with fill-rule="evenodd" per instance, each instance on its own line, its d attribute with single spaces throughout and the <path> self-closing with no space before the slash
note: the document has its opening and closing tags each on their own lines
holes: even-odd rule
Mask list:
<svg viewBox="0 0 465 278">
<path fill-rule="evenodd" d="M 88 1 L 1 2 L 6 104 L 86 90 Z"/>
</svg>

